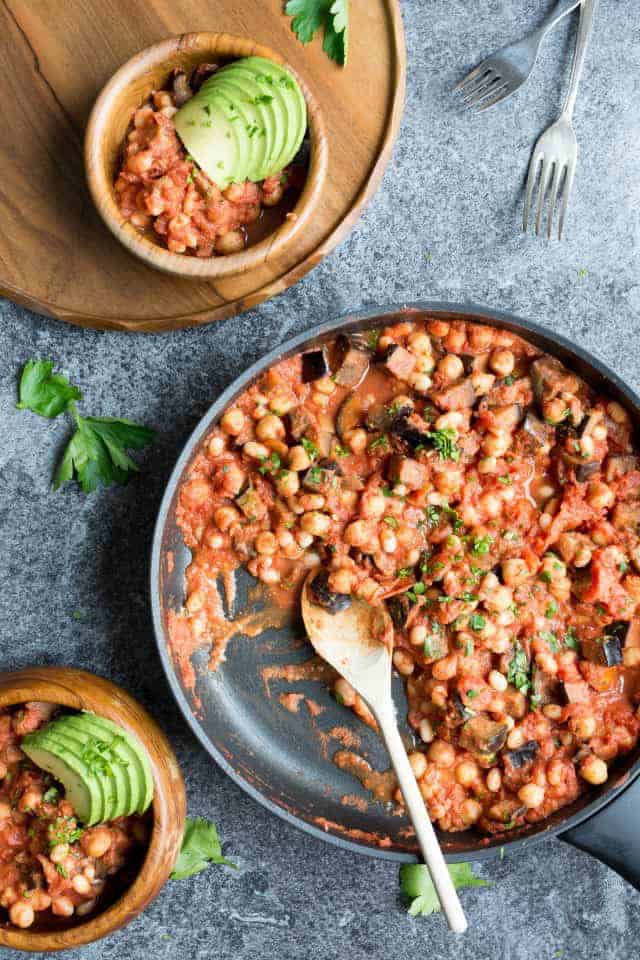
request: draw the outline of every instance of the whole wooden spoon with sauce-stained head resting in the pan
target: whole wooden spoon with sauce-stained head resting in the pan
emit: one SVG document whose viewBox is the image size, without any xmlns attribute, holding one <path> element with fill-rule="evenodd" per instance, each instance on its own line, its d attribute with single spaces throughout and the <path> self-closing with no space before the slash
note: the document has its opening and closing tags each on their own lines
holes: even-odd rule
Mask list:
<svg viewBox="0 0 640 960">
<path fill-rule="evenodd" d="M 309 574 L 302 590 L 302 616 L 311 643 L 367 702 L 376 718 L 449 927 L 464 933 L 467 921 L 462 905 L 398 730 L 391 697 L 393 624 L 387 608 L 354 597 L 346 609 L 332 614 L 314 602 L 309 590 L 316 575 L 316 571 Z"/>
</svg>

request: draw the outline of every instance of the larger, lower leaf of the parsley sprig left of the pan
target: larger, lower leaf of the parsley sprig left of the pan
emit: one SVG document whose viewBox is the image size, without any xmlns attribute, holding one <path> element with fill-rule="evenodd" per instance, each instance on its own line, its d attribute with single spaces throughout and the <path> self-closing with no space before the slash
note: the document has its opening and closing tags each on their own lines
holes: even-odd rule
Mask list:
<svg viewBox="0 0 640 960">
<path fill-rule="evenodd" d="M 72 410 L 76 431 L 71 437 L 56 470 L 53 487 L 57 490 L 74 475 L 85 493 L 99 484 L 126 484 L 138 465 L 127 450 L 142 450 L 155 437 L 155 430 L 116 417 L 81 417 Z"/>
</svg>

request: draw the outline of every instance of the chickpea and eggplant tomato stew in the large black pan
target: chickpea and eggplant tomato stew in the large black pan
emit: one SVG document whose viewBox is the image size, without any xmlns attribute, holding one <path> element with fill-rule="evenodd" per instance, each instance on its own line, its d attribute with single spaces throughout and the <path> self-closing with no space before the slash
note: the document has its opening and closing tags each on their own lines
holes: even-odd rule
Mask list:
<svg viewBox="0 0 640 960">
<path fill-rule="evenodd" d="M 273 366 L 210 432 L 174 658 L 215 647 L 212 585 L 240 566 L 280 603 L 314 568 L 330 611 L 386 603 L 430 816 L 501 834 L 638 741 L 640 458 L 626 410 L 525 339 L 396 319 Z"/>
</svg>

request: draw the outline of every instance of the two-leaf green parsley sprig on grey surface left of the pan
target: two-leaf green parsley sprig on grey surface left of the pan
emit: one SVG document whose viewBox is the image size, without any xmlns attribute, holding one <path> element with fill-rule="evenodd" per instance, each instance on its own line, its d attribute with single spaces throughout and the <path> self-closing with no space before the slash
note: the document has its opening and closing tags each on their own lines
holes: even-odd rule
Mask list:
<svg viewBox="0 0 640 960">
<path fill-rule="evenodd" d="M 52 360 L 28 360 L 20 378 L 19 410 L 31 410 L 53 419 L 68 413 L 75 431 L 55 472 L 54 489 L 75 478 L 85 493 L 100 484 L 128 483 L 138 471 L 129 450 L 143 450 L 155 437 L 150 427 L 119 417 L 83 417 L 75 401 L 82 399 L 78 387 L 63 374 L 53 373 Z"/>
</svg>

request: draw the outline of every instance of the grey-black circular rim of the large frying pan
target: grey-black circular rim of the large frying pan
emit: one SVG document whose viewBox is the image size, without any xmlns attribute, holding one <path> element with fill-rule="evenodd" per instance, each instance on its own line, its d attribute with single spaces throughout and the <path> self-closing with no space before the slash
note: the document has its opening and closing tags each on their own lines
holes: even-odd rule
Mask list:
<svg viewBox="0 0 640 960">
<path fill-rule="evenodd" d="M 151 593 L 151 613 L 153 621 L 154 637 L 160 662 L 162 664 L 165 677 L 173 697 L 180 708 L 183 718 L 186 720 L 197 740 L 204 747 L 206 752 L 216 761 L 218 766 L 231 778 L 252 799 L 256 800 L 261 806 L 265 807 L 271 813 L 280 817 L 286 823 L 303 830 L 306 834 L 316 837 L 319 840 L 329 842 L 342 850 L 349 850 L 354 853 L 365 856 L 373 856 L 378 859 L 390 860 L 398 863 L 415 863 L 417 857 L 408 851 L 389 850 L 377 845 L 369 845 L 365 842 L 357 842 L 346 838 L 338 833 L 334 833 L 316 826 L 302 816 L 298 816 L 272 801 L 265 796 L 252 783 L 249 782 L 233 765 L 227 760 L 224 754 L 211 742 L 206 732 L 200 725 L 197 717 L 187 700 L 182 687 L 178 681 L 174 665 L 168 652 L 165 641 L 165 627 L 162 622 L 162 611 L 160 603 L 161 595 L 161 560 L 163 534 L 167 517 L 173 502 L 176 489 L 180 483 L 185 468 L 189 464 L 195 450 L 201 443 L 206 431 L 211 424 L 220 416 L 227 405 L 244 390 L 248 384 L 253 382 L 261 373 L 281 360 L 285 355 L 292 355 L 304 346 L 313 343 L 328 335 L 336 333 L 341 329 L 357 325 L 363 321 L 374 321 L 378 317 L 397 316 L 406 312 L 410 317 L 412 312 L 430 313 L 430 314 L 453 314 L 459 317 L 474 320 L 479 323 L 497 324 L 499 327 L 510 329 L 514 333 L 520 333 L 525 339 L 528 334 L 533 334 L 539 340 L 545 341 L 544 349 L 551 355 L 557 355 L 558 352 L 566 352 L 572 357 L 578 358 L 584 364 L 589 366 L 597 373 L 610 389 L 613 387 L 613 393 L 619 394 L 634 409 L 640 409 L 640 396 L 622 380 L 610 367 L 603 361 L 595 357 L 588 350 L 574 344 L 563 334 L 556 333 L 554 330 L 544 327 L 534 321 L 525 320 L 515 313 L 496 310 L 479 303 L 467 302 L 464 304 L 441 301 L 441 300 L 414 300 L 406 301 L 400 304 L 374 304 L 362 307 L 359 310 L 347 311 L 341 313 L 331 320 L 324 321 L 308 328 L 294 337 L 287 338 L 284 342 L 277 344 L 260 359 L 256 360 L 251 366 L 234 378 L 231 383 L 219 394 L 214 402 L 209 406 L 206 413 L 200 418 L 194 429 L 189 434 L 180 456 L 178 457 L 170 477 L 166 483 L 162 496 L 158 515 L 153 530 L 153 540 L 151 548 L 150 580 L 149 587 Z M 588 820 L 594 814 L 598 813 L 627 787 L 640 774 L 640 757 L 637 757 L 630 769 L 620 777 L 617 784 L 609 787 L 601 795 L 594 797 L 589 803 L 585 804 L 580 810 L 571 816 L 561 819 L 559 822 L 549 822 L 547 826 L 542 827 L 530 835 L 517 836 L 513 839 L 500 836 L 498 840 L 490 837 L 486 838 L 486 844 L 482 846 L 483 840 L 479 840 L 478 849 L 463 851 L 444 851 L 445 859 L 449 863 L 460 862 L 464 860 L 484 860 L 497 856 L 501 850 L 509 847 L 523 848 L 531 846 L 534 843 L 561 835 L 567 830 L 577 827 L 579 824 Z M 545 822 L 545 821 L 543 821 Z"/>
</svg>

